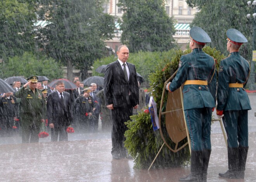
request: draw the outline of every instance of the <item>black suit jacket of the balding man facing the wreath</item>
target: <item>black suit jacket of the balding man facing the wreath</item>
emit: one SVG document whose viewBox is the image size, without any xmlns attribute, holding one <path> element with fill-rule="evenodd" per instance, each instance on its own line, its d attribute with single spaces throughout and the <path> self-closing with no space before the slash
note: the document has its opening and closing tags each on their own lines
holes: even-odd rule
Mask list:
<svg viewBox="0 0 256 182">
<path fill-rule="evenodd" d="M 135 66 L 127 63 L 130 77 L 127 82 L 125 73 L 118 60 L 106 67 L 104 77 L 104 95 L 106 105 L 113 104 L 114 107 L 134 107 L 139 104 L 138 80 Z M 130 93 L 130 95 L 129 95 Z"/>
</svg>

